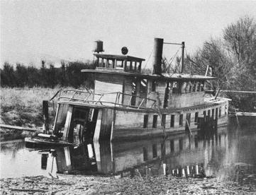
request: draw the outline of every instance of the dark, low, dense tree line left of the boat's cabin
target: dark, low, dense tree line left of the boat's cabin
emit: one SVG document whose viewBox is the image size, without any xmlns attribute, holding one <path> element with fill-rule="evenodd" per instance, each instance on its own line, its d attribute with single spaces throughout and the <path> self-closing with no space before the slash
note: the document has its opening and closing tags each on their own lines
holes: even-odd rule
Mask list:
<svg viewBox="0 0 256 195">
<path fill-rule="evenodd" d="M 14 68 L 13 64 L 5 62 L 3 69 L 1 69 L 1 87 L 40 86 L 54 88 L 56 85 L 60 85 L 62 87 L 79 88 L 80 86 L 87 86 L 91 88 L 93 79 L 90 75 L 81 73 L 82 69 L 94 69 L 94 63 L 62 61 L 61 67 L 55 68 L 54 64 L 47 66 L 45 61 L 42 60 L 40 69 L 37 69 L 35 66 L 25 66 L 19 63 Z"/>
</svg>

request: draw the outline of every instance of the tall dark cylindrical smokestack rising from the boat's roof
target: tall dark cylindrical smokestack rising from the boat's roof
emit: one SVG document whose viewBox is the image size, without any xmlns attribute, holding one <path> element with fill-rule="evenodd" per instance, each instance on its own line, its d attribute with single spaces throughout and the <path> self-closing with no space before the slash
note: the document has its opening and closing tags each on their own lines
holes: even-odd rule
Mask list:
<svg viewBox="0 0 256 195">
<path fill-rule="evenodd" d="M 154 51 L 153 51 L 153 73 L 161 75 L 162 73 L 162 45 L 164 39 L 155 38 Z"/>
</svg>

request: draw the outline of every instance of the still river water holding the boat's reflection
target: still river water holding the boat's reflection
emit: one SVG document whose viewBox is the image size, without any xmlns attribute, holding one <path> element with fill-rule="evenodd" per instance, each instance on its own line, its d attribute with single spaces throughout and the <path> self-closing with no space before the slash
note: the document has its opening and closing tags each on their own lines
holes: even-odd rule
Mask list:
<svg viewBox="0 0 256 195">
<path fill-rule="evenodd" d="M 255 182 L 255 118 L 216 131 L 197 131 L 140 141 L 84 143 L 77 147 L 27 148 L 23 140 L 1 143 L 1 178 L 33 175 L 115 174 L 221 177 Z"/>
</svg>

